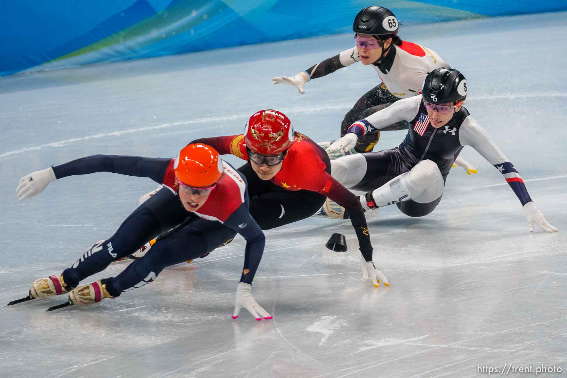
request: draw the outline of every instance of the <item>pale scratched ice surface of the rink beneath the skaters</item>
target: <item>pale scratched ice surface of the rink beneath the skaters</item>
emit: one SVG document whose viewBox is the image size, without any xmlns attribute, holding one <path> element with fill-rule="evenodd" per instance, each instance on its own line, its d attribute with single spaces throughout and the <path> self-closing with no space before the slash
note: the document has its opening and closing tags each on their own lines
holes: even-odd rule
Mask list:
<svg viewBox="0 0 567 378">
<path fill-rule="evenodd" d="M 45 312 L 65 298 L 0 307 L 0 376 L 409 378 L 486 376 L 477 364 L 567 369 L 566 17 L 401 31 L 466 75 L 466 107 L 560 232 L 530 234 L 500 173 L 465 148 L 479 174 L 455 168 L 431 215 L 367 213 L 389 288 L 362 281 L 348 221 L 310 218 L 266 232 L 253 293 L 273 320 L 257 322 L 244 309 L 230 318 L 243 262 L 238 237 L 90 308 Z M 336 138 L 344 113 L 378 83 L 373 69 L 354 65 L 313 80 L 305 95 L 270 78 L 350 46 L 350 34 L 324 36 L 0 79 L 0 303 L 112 235 L 155 187 L 97 173 L 54 182 L 19 203 L 22 175 L 91 154 L 173 156 L 194 138 L 240 133 L 262 108 L 285 112 L 316 141 Z M 404 134 L 382 133 L 379 147 L 397 146 Z M 325 249 L 333 232 L 347 236 L 348 252 Z"/>
</svg>

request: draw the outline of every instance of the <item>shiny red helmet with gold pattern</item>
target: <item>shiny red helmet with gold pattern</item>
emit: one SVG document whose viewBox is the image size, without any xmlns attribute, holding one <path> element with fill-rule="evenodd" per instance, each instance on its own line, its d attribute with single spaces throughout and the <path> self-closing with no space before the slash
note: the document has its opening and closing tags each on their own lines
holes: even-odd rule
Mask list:
<svg viewBox="0 0 567 378">
<path fill-rule="evenodd" d="M 244 142 L 257 154 L 273 155 L 294 143 L 291 121 L 284 113 L 265 109 L 252 114 L 244 126 Z"/>
</svg>

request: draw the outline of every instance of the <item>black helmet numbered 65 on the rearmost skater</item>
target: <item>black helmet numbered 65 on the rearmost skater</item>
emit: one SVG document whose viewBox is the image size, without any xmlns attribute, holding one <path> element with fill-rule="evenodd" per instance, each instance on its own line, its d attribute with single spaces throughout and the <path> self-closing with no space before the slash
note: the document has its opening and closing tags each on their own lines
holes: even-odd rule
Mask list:
<svg viewBox="0 0 567 378">
<path fill-rule="evenodd" d="M 391 10 L 371 6 L 358 12 L 354 18 L 353 31 L 375 36 L 397 34 L 398 24 Z"/>
</svg>

